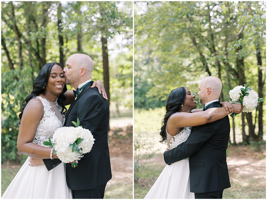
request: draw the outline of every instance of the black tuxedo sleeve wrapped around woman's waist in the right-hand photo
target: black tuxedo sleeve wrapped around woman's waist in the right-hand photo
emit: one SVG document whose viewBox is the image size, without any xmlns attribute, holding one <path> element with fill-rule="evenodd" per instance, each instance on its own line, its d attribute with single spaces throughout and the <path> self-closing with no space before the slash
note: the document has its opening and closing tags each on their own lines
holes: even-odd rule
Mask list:
<svg viewBox="0 0 267 200">
<path fill-rule="evenodd" d="M 194 127 L 194 131 L 191 132 L 185 142 L 164 152 L 163 158 L 165 163 L 170 165 L 195 154 L 195 152 L 197 152 L 207 142 L 207 140 L 213 136 L 216 131 L 215 126 L 215 123 L 209 123 Z"/>
</svg>

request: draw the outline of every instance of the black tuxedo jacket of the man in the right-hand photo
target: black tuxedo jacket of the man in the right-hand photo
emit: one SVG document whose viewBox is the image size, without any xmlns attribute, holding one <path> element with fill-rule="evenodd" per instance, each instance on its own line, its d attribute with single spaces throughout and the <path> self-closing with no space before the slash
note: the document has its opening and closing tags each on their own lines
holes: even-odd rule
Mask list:
<svg viewBox="0 0 267 200">
<path fill-rule="evenodd" d="M 219 101 L 207 106 L 222 107 Z M 230 135 L 228 116 L 201 126 L 192 127 L 187 140 L 164 152 L 170 165 L 189 157 L 190 191 L 206 193 L 231 187 L 226 163 L 226 149 Z"/>
</svg>

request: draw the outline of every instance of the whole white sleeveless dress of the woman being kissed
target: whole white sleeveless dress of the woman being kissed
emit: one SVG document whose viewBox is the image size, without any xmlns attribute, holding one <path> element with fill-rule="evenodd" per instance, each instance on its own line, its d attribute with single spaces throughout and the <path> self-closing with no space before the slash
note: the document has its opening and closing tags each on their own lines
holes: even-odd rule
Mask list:
<svg viewBox="0 0 267 200">
<path fill-rule="evenodd" d="M 62 108 L 57 100 L 49 103 L 40 96 L 36 98 L 44 106 L 44 116 L 39 122 L 33 143 L 45 146 L 43 142 L 48 141 L 49 137 L 52 138 L 55 130 L 63 126 L 63 117 L 60 113 Z M 29 157 L 2 196 L 2 199 L 71 198 L 71 190 L 66 183 L 64 163 L 48 171 L 44 164 L 38 167 L 29 166 Z"/>
</svg>

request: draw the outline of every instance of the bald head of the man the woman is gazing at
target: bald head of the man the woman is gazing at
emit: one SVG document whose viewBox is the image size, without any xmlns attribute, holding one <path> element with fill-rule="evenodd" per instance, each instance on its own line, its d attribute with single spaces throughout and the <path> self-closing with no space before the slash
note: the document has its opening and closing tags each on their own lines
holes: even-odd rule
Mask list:
<svg viewBox="0 0 267 200">
<path fill-rule="evenodd" d="M 216 76 L 207 76 L 203 78 L 199 85 L 199 102 L 205 103 L 219 99 L 222 91 L 222 81 Z"/>
</svg>

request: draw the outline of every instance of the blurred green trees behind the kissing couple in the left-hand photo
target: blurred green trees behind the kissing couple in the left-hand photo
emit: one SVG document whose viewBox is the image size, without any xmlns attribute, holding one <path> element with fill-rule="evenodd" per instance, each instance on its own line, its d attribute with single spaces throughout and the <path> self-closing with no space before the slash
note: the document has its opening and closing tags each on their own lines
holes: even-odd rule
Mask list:
<svg viewBox="0 0 267 200">
<path fill-rule="evenodd" d="M 17 154 L 19 107 L 45 63 L 88 54 L 111 119 L 132 117 L 132 2 L 1 2 L 2 161 Z M 72 89 L 68 86 L 68 89 Z M 125 124 L 127 126 L 127 124 Z"/>
</svg>

